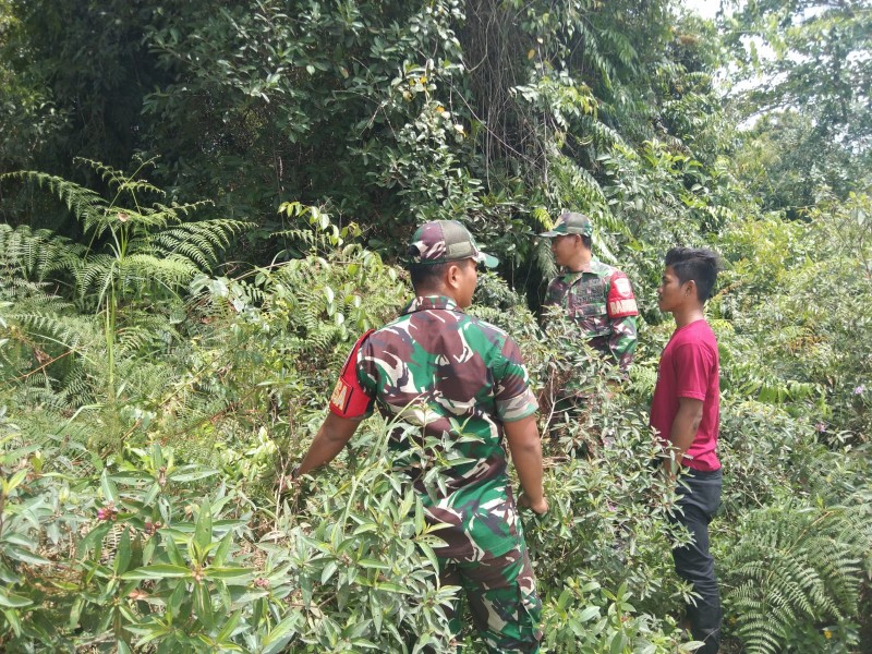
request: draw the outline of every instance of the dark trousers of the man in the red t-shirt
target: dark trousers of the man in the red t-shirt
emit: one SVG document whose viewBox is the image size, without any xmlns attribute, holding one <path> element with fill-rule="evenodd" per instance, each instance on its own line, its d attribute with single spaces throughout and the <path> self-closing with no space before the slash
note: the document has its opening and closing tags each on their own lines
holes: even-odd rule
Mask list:
<svg viewBox="0 0 872 654">
<path fill-rule="evenodd" d="M 683 524 L 693 535 L 693 543 L 673 549 L 675 571 L 693 585 L 699 595 L 688 605 L 693 639 L 705 644 L 697 654 L 715 654 L 720 643 L 720 594 L 715 579 L 715 560 L 708 554 L 708 523 L 720 506 L 720 471 L 690 470 L 678 487 L 678 506 L 673 519 Z"/>
</svg>

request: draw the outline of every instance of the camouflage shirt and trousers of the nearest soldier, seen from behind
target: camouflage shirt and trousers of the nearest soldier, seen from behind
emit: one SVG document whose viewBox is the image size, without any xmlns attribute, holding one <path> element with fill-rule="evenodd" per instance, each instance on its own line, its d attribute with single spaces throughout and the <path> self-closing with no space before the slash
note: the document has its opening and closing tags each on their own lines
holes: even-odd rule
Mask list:
<svg viewBox="0 0 872 654">
<path fill-rule="evenodd" d="M 415 245 L 424 261 L 451 255 Z M 477 250 L 465 256 L 489 263 Z M 444 473 L 445 492 L 425 487 L 426 462 L 411 467 L 427 522 L 447 525 L 436 532 L 446 543 L 435 549 L 443 583 L 464 589 L 488 650 L 537 652 L 542 605 L 506 471 L 502 427 L 538 408 L 518 346 L 449 298 L 417 296 L 358 342 L 330 410 L 365 417 L 376 401 L 385 416 L 420 426 L 421 438 L 439 438 L 460 459 Z M 391 448 L 409 448 L 401 436 L 391 434 Z M 459 631 L 457 613 L 452 627 Z"/>
</svg>

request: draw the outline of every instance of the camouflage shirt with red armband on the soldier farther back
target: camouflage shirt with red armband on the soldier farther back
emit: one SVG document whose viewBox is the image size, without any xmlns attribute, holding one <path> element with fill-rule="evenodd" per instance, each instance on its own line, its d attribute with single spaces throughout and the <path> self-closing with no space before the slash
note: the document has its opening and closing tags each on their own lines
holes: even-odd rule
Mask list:
<svg viewBox="0 0 872 654">
<path fill-rule="evenodd" d="M 627 276 L 602 262 L 564 272 L 548 284 L 545 305 L 560 306 L 588 335 L 594 349 L 609 354 L 627 371 L 637 346 L 639 310 Z"/>
</svg>

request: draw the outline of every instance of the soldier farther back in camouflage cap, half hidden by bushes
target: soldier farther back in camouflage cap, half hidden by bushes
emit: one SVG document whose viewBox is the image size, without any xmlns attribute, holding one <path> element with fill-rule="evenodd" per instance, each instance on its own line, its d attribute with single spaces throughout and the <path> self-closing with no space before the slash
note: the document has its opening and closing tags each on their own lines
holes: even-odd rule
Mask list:
<svg viewBox="0 0 872 654">
<path fill-rule="evenodd" d="M 554 229 L 540 234 L 552 239 L 555 263 L 564 268 L 548 284 L 544 304 L 566 311 L 591 347 L 627 374 L 637 346 L 639 310 L 627 276 L 593 256 L 592 234 L 591 219 L 574 211 L 564 211 Z"/>
</svg>

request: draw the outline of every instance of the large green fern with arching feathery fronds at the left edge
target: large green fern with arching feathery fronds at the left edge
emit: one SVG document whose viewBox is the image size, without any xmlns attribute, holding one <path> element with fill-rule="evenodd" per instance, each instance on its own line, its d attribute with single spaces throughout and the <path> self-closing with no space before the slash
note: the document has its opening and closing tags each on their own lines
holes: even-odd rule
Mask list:
<svg viewBox="0 0 872 654">
<path fill-rule="evenodd" d="M 107 432 L 93 445 L 118 448 L 130 425 L 119 420 L 116 404 L 131 399 L 130 391 L 144 390 L 142 382 L 149 388 L 147 377 L 135 373 L 119 384 L 119 372 L 125 366 L 140 370 L 133 356 L 160 350 L 175 336 L 171 318 L 159 313 L 145 317 L 143 310 L 147 312 L 157 300 L 167 301 L 172 307 L 177 293 L 195 275 L 218 262 L 219 254 L 245 223 L 220 219 L 183 223 L 183 218 L 202 203 L 144 206 L 142 195 L 161 192 L 135 174 L 126 175 L 96 161 L 85 162 L 107 182 L 113 193 L 111 199 L 39 172 L 0 177 L 47 186 L 82 222 L 90 240 L 87 247 L 66 247 L 64 239 L 46 232 L 7 228 L 0 232 L 4 274 L 14 276 L 21 271 L 25 279 L 53 281 L 56 271 L 62 272 L 57 276 L 59 281 L 65 277 L 73 282 L 73 291 L 66 295 L 80 307 L 96 312 L 90 319 L 69 319 L 70 312 L 56 298 L 40 295 L 38 287 L 32 287 L 29 302 L 22 303 L 20 313 L 10 315 L 8 320 L 10 340 L 17 346 L 14 361 L 10 356 L 3 359 L 11 364 L 12 376 L 33 376 L 33 382 L 40 382 L 41 387 L 31 387 L 31 393 L 38 390 L 58 409 L 107 407 Z M 129 204 L 121 204 L 122 201 Z M 34 304 L 38 312 L 32 311 Z M 98 349 L 93 349 L 95 334 L 101 336 Z M 94 339 L 87 353 L 82 347 L 83 337 Z M 33 350 L 35 367 L 25 354 L 27 349 Z M 133 401 L 137 399 L 134 397 Z"/>
</svg>

